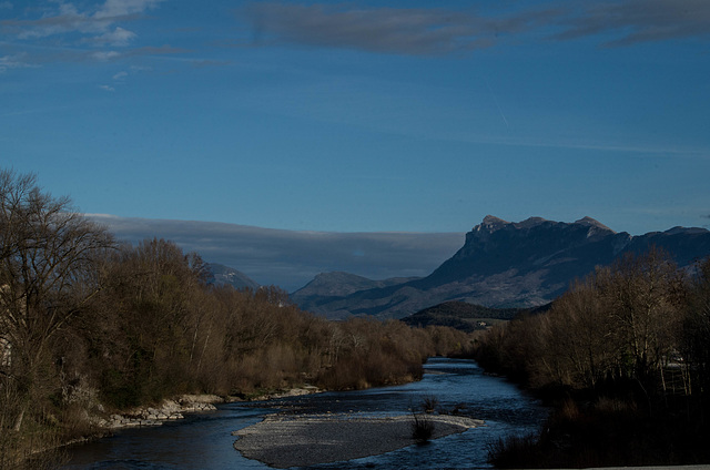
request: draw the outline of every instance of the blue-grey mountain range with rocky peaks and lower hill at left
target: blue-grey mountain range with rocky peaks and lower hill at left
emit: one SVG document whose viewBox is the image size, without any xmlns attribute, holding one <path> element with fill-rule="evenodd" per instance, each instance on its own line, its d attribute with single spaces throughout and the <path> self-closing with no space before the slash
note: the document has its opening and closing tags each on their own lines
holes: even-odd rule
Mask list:
<svg viewBox="0 0 710 470">
<path fill-rule="evenodd" d="M 673 227 L 631 236 L 591 217 L 574 223 L 541 217 L 511 223 L 488 215 L 466 234 L 464 246 L 426 277 L 399 283 L 322 274 L 317 283 L 314 279 L 315 284 L 297 290 L 292 299 L 328 318 L 402 318 L 449 300 L 529 308 L 549 303 L 596 266 L 609 265 L 627 252 L 643 253 L 653 245 L 668 251 L 679 266 L 688 266 L 710 255 L 710 232 Z M 348 279 L 355 278 L 357 282 L 348 285 Z M 327 295 L 322 290 L 325 285 Z"/>
</svg>

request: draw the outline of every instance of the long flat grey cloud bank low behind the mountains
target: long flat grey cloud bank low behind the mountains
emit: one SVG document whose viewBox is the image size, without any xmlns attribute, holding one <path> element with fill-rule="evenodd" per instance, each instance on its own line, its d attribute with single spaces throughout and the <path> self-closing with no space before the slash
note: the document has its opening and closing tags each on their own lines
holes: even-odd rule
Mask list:
<svg viewBox="0 0 710 470">
<path fill-rule="evenodd" d="M 426 276 L 464 244 L 463 233 L 295 232 L 212 222 L 91 217 L 120 239 L 171 239 L 207 262 L 290 292 L 333 270 L 372 279 Z"/>
</svg>

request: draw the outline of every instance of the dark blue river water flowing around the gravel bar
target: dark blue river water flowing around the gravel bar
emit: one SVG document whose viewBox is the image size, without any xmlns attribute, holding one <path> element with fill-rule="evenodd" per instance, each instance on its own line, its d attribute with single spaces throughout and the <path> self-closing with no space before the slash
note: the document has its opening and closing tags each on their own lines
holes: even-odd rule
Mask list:
<svg viewBox="0 0 710 470">
<path fill-rule="evenodd" d="M 233 448 L 232 431 L 271 412 L 408 413 L 425 397 L 443 410 L 483 419 L 484 427 L 410 446 L 382 456 L 321 464 L 314 469 L 486 468 L 488 446 L 500 437 L 539 429 L 547 410 L 505 379 L 487 376 L 470 360 L 432 358 L 420 381 L 369 390 L 325 392 L 262 402 L 220 405 L 217 411 L 187 416 L 161 427 L 120 430 L 111 438 L 77 446 L 65 470 L 268 469 Z"/>
</svg>

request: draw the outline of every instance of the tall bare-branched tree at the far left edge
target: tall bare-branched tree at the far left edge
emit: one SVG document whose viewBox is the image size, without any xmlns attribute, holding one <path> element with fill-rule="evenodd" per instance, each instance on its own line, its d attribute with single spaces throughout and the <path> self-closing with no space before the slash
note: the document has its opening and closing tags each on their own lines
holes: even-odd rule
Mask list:
<svg viewBox="0 0 710 470">
<path fill-rule="evenodd" d="M 99 290 L 94 267 L 113 245 L 105 228 L 52 197 L 34 175 L 0 171 L 0 336 L 11 346 L 4 386 L 26 397 L 14 420 L 48 374 L 40 374 L 51 340 Z"/>
</svg>

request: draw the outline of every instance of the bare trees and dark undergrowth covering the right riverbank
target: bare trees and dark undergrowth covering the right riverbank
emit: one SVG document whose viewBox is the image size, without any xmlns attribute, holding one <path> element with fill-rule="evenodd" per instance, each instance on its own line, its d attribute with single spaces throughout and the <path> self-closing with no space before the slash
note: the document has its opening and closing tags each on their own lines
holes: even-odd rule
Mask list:
<svg viewBox="0 0 710 470">
<path fill-rule="evenodd" d="M 500 467 L 710 461 L 710 258 L 627 254 L 493 328 L 475 356 L 556 402 L 539 436 L 495 448 Z"/>
</svg>

